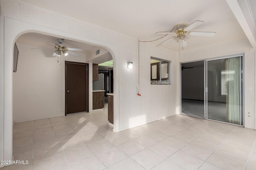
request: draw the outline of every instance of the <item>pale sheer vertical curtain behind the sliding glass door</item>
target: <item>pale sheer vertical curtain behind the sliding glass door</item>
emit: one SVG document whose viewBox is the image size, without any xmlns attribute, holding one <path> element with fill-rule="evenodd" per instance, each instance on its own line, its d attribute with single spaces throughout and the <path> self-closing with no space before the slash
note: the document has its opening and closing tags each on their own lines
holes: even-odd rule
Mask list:
<svg viewBox="0 0 256 170">
<path fill-rule="evenodd" d="M 226 121 L 241 125 L 240 57 L 226 59 Z"/>
</svg>

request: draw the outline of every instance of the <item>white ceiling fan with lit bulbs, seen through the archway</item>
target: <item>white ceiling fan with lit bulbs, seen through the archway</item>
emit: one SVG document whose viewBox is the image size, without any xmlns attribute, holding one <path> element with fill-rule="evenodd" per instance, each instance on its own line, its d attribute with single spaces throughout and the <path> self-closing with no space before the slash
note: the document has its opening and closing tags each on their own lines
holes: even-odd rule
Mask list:
<svg viewBox="0 0 256 170">
<path fill-rule="evenodd" d="M 68 54 L 70 55 L 74 55 L 74 56 L 80 56 L 79 54 L 77 53 L 74 53 L 72 51 L 83 51 L 82 49 L 80 48 L 69 48 L 69 47 L 66 47 L 65 44 L 62 44 L 64 41 L 64 39 L 57 39 L 58 43 L 54 44 L 54 43 L 49 43 L 49 44 L 52 44 L 54 45 L 54 48 L 52 49 L 56 49 L 53 53 L 52 56 L 61 56 L 61 53 L 64 54 L 64 56 L 67 56 Z M 47 42 L 48 43 L 48 42 Z M 32 48 L 32 49 L 37 49 L 37 48 Z"/>
</svg>

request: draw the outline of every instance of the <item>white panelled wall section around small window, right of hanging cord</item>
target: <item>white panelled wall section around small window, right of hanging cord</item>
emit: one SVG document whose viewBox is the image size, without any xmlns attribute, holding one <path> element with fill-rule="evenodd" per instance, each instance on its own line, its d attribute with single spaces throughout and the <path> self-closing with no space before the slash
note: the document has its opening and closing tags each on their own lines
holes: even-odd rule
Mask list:
<svg viewBox="0 0 256 170">
<path fill-rule="evenodd" d="M 142 61 L 142 69 L 140 70 L 142 78 L 140 78 L 140 85 L 142 87 L 142 91 L 139 98 L 142 98 L 143 102 L 143 113 L 141 115 L 141 119 L 146 116 L 146 120 L 148 122 L 155 121 L 162 117 L 170 116 L 176 114 L 175 107 L 171 107 L 171 102 L 176 99 L 176 90 L 173 90 L 173 94 L 171 93 L 172 89 L 175 88 L 175 85 L 150 85 L 150 57 L 157 57 L 160 59 L 165 59 L 168 61 L 172 61 L 176 63 L 175 53 L 162 49 L 156 48 L 154 45 L 150 43 L 140 43 L 140 58 Z M 171 79 L 176 82 L 176 77 L 173 76 L 174 69 L 171 65 Z M 176 72 L 176 70 L 175 70 Z M 145 94 L 146 93 L 146 94 Z M 140 101 L 139 101 L 140 102 Z M 138 106 L 140 107 L 140 105 Z M 140 111 L 138 111 L 140 114 Z"/>
</svg>

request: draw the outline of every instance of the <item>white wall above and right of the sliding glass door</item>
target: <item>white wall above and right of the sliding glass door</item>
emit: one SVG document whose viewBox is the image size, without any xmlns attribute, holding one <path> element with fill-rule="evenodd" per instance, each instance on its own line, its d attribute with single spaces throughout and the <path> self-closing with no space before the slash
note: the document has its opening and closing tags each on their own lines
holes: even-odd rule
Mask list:
<svg viewBox="0 0 256 170">
<path fill-rule="evenodd" d="M 179 57 L 179 62 L 183 63 L 244 53 L 244 126 L 250 129 L 256 129 L 256 116 L 254 113 L 254 106 L 256 104 L 254 91 L 256 87 L 254 81 L 256 75 L 256 72 L 254 72 L 256 67 L 255 50 L 256 49 L 252 49 L 247 39 L 241 39 L 212 45 L 210 47 L 182 51 Z"/>
</svg>

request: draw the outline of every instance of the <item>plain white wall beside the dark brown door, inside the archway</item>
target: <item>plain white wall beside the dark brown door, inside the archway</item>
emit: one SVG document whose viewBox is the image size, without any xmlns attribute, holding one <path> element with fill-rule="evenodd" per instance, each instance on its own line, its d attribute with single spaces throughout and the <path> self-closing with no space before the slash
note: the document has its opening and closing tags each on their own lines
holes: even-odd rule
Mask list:
<svg viewBox="0 0 256 170">
<path fill-rule="evenodd" d="M 65 61 L 85 63 L 86 56 L 62 55 L 58 62 L 58 57 L 45 55 L 47 49 L 17 46 L 19 57 L 17 72 L 13 73 L 13 121 L 65 115 Z M 92 76 L 92 72 L 89 73 Z"/>
</svg>

